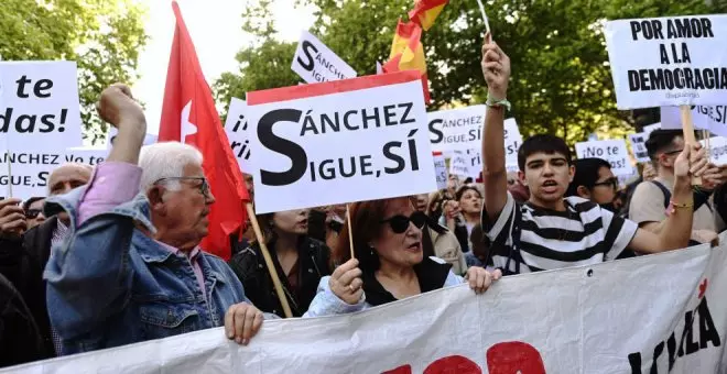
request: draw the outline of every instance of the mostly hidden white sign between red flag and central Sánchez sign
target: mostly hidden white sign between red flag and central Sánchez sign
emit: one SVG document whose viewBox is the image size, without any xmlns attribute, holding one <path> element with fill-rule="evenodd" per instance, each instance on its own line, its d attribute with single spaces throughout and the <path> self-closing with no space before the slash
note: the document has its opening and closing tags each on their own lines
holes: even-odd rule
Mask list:
<svg viewBox="0 0 727 374">
<path fill-rule="evenodd" d="M 240 170 L 246 174 L 252 174 L 254 167 L 250 158 L 250 136 L 253 130 L 249 129 L 248 118 L 246 116 L 247 103 L 245 100 L 232 98 L 227 111 L 227 121 L 225 121 L 225 132 L 230 142 L 232 154 L 237 158 Z"/>
</svg>

